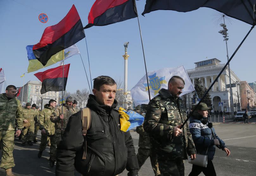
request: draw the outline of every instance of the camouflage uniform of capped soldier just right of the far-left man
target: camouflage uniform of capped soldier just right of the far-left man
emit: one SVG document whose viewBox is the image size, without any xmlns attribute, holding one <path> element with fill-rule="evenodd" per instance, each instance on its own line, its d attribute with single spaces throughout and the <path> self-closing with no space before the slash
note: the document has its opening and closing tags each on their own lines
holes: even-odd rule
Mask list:
<svg viewBox="0 0 256 176">
<path fill-rule="evenodd" d="M 22 133 L 21 133 L 21 142 L 25 143 L 27 140 L 28 141 L 34 140 L 34 131 L 35 131 L 34 118 L 35 118 L 36 114 L 32 108 L 28 109 L 26 106 L 22 109 L 22 114 L 23 114 L 23 120 L 26 119 L 30 122 L 30 126 L 23 128 Z"/>
</svg>

